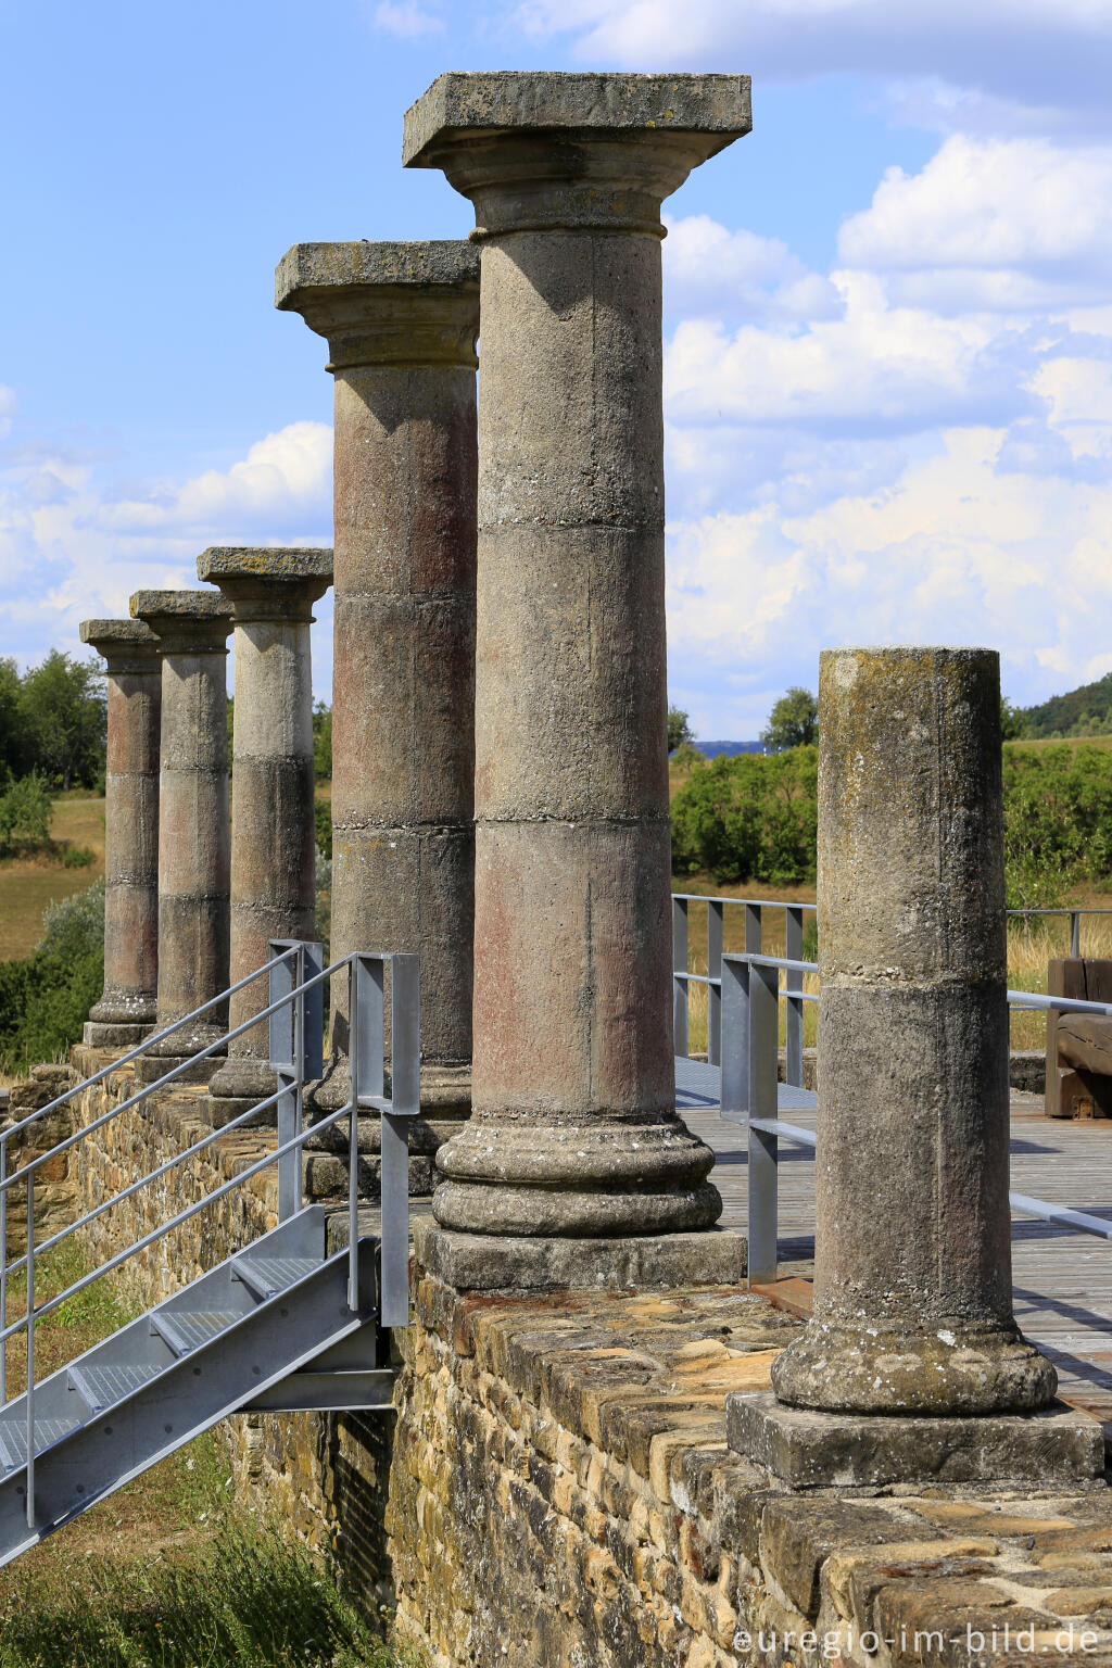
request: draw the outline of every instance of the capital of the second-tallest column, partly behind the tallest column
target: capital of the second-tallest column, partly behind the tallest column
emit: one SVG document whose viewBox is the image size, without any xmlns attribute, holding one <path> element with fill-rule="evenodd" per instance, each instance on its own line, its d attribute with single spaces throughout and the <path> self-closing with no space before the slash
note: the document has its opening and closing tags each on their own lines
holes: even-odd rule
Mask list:
<svg viewBox="0 0 1112 1668">
<path fill-rule="evenodd" d="M 295 244 L 273 290 L 278 310 L 300 312 L 327 337 L 328 370 L 478 365 L 478 250 L 468 242 Z"/>
</svg>

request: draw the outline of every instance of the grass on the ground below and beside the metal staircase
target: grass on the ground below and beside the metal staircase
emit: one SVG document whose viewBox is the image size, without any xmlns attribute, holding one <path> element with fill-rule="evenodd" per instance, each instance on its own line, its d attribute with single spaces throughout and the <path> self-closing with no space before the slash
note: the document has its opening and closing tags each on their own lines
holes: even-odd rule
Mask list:
<svg viewBox="0 0 1112 1668">
<path fill-rule="evenodd" d="M 75 1239 L 58 1246 L 40 1259 L 37 1301 L 87 1268 Z M 12 1289 L 12 1319 L 23 1303 Z M 37 1376 L 135 1313 L 112 1279 L 65 1299 L 35 1326 Z M 12 1394 L 23 1363 L 10 1348 Z M 0 1668 L 420 1668 L 383 1643 L 383 1621 L 235 1501 L 213 1431 L 0 1571 Z"/>
</svg>

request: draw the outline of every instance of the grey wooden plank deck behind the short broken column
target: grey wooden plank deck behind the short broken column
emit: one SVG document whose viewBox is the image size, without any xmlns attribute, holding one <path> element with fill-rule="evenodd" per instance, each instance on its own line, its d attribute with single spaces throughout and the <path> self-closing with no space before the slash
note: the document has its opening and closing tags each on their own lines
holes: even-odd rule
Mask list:
<svg viewBox="0 0 1112 1668">
<path fill-rule="evenodd" d="M 717 1071 L 677 1061 L 677 1103 L 715 1151 L 722 1223 L 745 1228 L 745 1131 L 717 1111 Z M 780 1088 L 780 1118 L 815 1126 L 814 1096 Z M 1012 1099 L 1012 1189 L 1112 1221 L 1112 1123 L 1047 1119 L 1042 1099 Z M 780 1143 L 780 1273 L 807 1276 L 814 1258 L 815 1166 Z M 1015 1318 L 1059 1369 L 1060 1393 L 1112 1426 L 1112 1243 L 1017 1216 L 1012 1221 Z M 1109 1431 L 1112 1434 L 1112 1431 Z"/>
</svg>

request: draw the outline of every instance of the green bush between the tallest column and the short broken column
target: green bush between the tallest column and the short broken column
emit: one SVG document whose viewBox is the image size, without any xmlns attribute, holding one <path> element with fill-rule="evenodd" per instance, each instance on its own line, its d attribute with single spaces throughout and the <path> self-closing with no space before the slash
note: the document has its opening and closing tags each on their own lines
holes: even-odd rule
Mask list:
<svg viewBox="0 0 1112 1668">
<path fill-rule="evenodd" d="M 819 754 L 722 754 L 692 774 L 672 801 L 672 869 L 705 872 L 719 886 L 815 879 Z"/>
</svg>

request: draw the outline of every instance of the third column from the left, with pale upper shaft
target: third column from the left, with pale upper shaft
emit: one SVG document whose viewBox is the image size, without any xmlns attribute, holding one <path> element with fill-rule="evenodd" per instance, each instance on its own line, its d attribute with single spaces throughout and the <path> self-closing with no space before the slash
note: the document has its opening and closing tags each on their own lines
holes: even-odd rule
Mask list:
<svg viewBox="0 0 1112 1668">
<path fill-rule="evenodd" d="M 230 984 L 267 961 L 270 939 L 315 931 L 312 607 L 332 584 L 332 550 L 212 549 L 197 577 L 235 607 L 232 721 Z M 228 1002 L 228 1029 L 267 1006 L 257 979 Z M 227 1121 L 273 1094 L 268 1024 L 228 1042 L 208 1084 Z M 277 1118 L 277 1111 L 275 1111 Z"/>
</svg>

